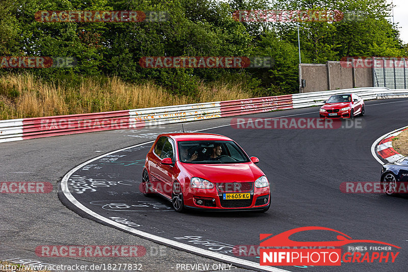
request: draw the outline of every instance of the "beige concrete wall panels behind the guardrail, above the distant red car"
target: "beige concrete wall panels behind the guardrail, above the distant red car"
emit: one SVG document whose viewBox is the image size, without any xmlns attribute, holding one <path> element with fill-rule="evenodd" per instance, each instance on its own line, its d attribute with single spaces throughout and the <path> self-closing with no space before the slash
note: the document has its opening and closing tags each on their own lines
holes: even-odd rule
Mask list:
<svg viewBox="0 0 408 272">
<path fill-rule="evenodd" d="M 300 64 L 301 79 L 306 80 L 302 93 L 373 87 L 371 68 L 351 68 L 342 62 L 326 64 Z"/>
</svg>

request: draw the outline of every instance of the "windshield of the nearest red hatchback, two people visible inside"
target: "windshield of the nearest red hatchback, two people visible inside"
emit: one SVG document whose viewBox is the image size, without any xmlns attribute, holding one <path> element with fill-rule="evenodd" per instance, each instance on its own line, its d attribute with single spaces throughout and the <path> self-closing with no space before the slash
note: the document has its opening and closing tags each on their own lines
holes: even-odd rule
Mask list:
<svg viewBox="0 0 408 272">
<path fill-rule="evenodd" d="M 239 164 L 248 156 L 233 141 L 181 141 L 179 159 L 189 164 Z"/>
</svg>

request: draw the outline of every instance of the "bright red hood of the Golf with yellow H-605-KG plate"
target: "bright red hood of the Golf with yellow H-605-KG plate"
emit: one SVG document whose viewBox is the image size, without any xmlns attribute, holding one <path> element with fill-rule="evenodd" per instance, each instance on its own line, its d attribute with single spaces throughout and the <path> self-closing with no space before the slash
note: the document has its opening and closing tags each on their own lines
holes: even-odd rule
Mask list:
<svg viewBox="0 0 408 272">
<path fill-rule="evenodd" d="M 221 165 L 183 164 L 182 167 L 190 178 L 205 178 L 211 182 L 248 182 L 264 175 L 252 162 Z"/>
</svg>

